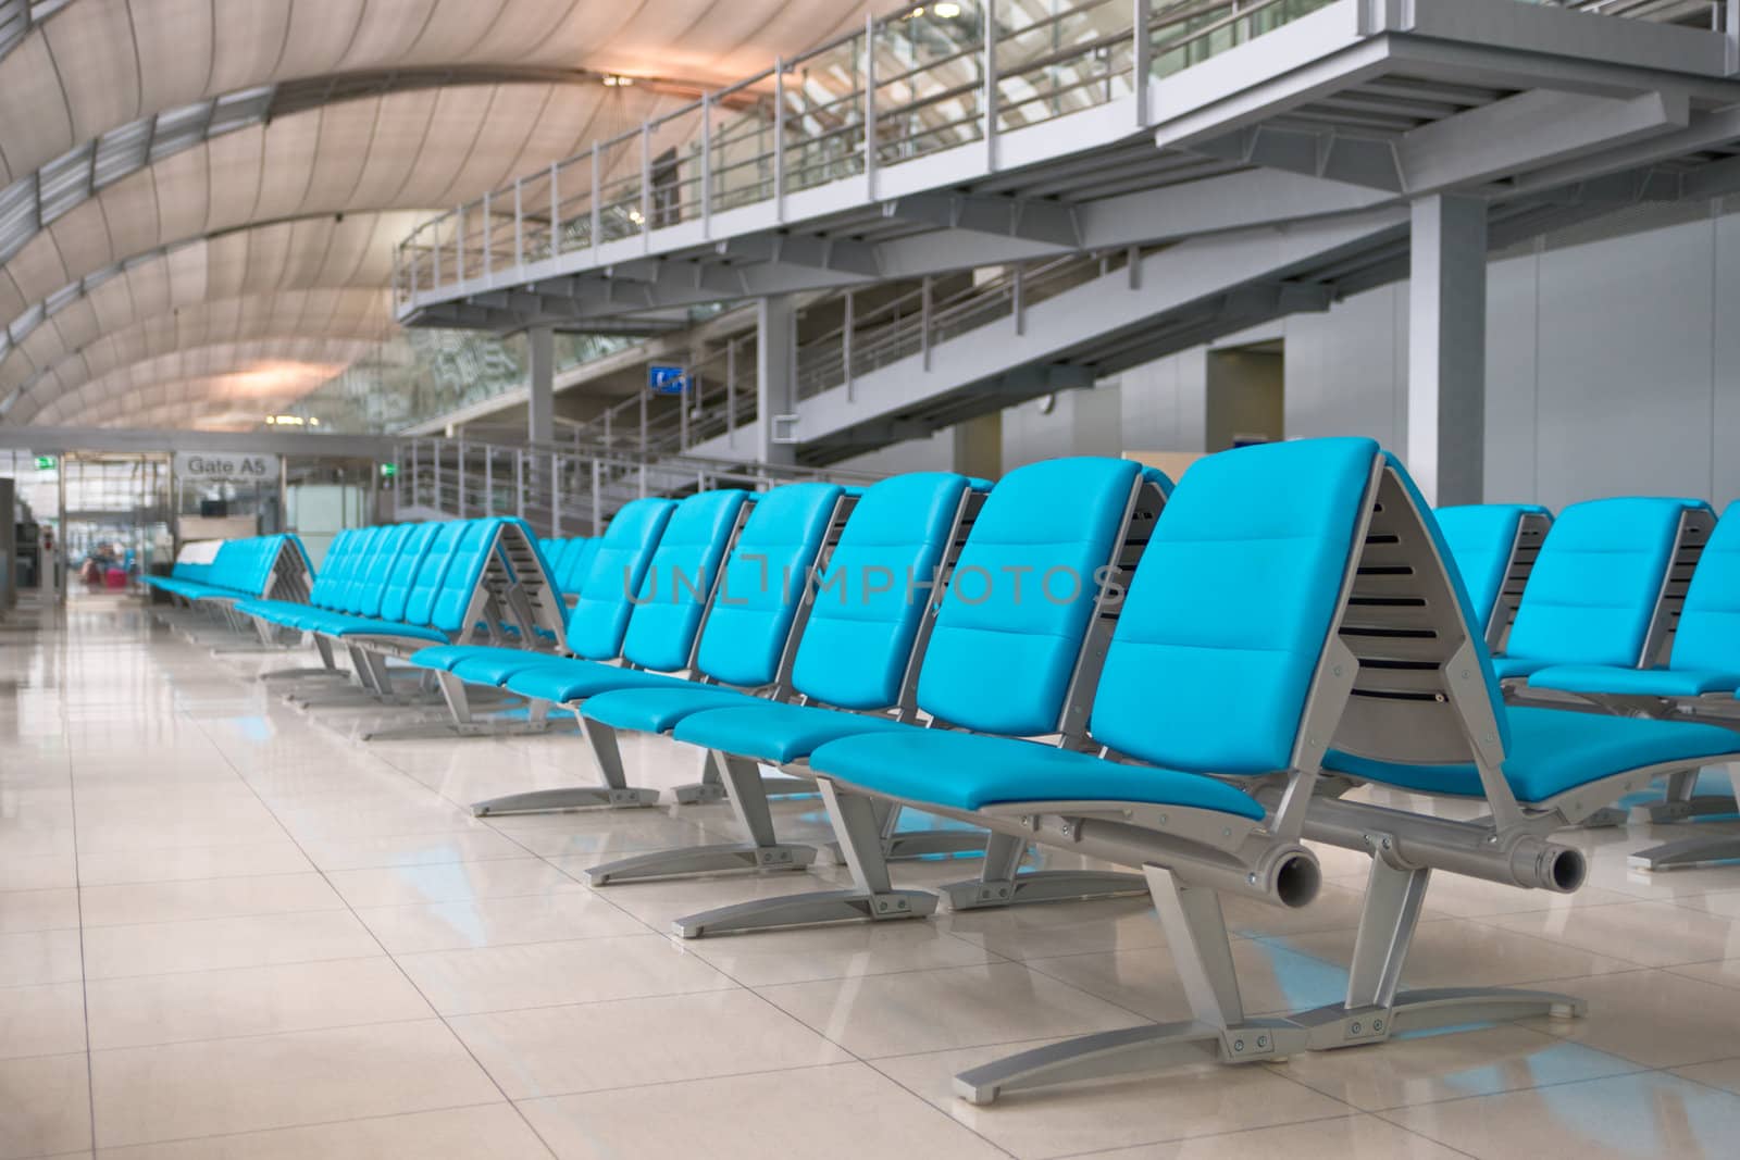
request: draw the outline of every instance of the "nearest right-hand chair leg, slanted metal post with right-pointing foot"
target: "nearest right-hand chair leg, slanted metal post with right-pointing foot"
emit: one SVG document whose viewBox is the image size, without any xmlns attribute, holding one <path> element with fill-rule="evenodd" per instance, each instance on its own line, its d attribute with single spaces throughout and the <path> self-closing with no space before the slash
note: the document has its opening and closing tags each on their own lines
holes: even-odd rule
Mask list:
<svg viewBox="0 0 1740 1160">
<path fill-rule="evenodd" d="M 1291 1017 L 1308 1031 L 1312 1050 L 1382 1043 L 1399 1031 L 1482 1024 L 1531 1016 L 1575 1017 L 1585 1003 L 1557 991 L 1512 988 L 1432 988 L 1402 991 L 1401 976 L 1420 925 L 1432 871 L 1399 870 L 1371 859 L 1366 904 L 1354 939 L 1347 1002 Z"/>
</svg>

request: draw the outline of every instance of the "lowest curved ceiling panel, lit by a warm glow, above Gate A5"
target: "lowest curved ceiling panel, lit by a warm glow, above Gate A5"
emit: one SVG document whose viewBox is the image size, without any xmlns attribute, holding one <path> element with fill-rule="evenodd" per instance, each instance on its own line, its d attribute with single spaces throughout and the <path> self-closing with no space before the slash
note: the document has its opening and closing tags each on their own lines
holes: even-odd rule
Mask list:
<svg viewBox="0 0 1740 1160">
<path fill-rule="evenodd" d="M 254 428 L 376 346 L 376 339 L 275 337 L 172 351 L 52 400 L 33 424 L 137 424 L 134 416 L 144 409 L 179 405 L 190 416 L 224 414 Z M 214 410 L 198 410 L 204 403 Z"/>
</svg>

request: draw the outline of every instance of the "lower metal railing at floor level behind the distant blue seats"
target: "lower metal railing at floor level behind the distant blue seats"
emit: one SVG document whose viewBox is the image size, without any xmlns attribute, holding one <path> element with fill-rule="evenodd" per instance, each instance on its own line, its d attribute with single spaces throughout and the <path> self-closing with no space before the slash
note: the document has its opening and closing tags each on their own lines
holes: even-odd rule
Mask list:
<svg viewBox="0 0 1740 1160">
<path fill-rule="evenodd" d="M 541 536 L 597 536 L 625 503 L 644 496 L 687 496 L 715 487 L 764 490 L 825 480 L 872 483 L 879 475 L 835 468 L 743 464 L 727 459 L 515 447 L 466 438 L 412 438 L 395 449 L 397 513 L 438 511 L 452 518 L 519 517 Z"/>
</svg>

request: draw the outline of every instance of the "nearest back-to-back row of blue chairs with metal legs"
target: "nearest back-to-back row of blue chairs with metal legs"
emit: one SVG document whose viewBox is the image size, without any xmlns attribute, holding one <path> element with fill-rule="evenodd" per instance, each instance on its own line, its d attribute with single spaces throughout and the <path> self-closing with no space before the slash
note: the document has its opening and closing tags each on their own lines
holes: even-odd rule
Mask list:
<svg viewBox="0 0 1740 1160">
<path fill-rule="evenodd" d="M 1569 510 L 1531 560 L 1507 656 L 1531 656 L 1517 652 L 1533 647 L 1526 621 L 1563 621 L 1550 557 L 1568 523 Z M 1512 551 L 1507 577 L 1514 565 Z M 1681 605 L 1683 633 L 1690 593 Z M 957 908 L 1140 882 L 1194 1019 L 962 1073 L 957 1092 L 985 1103 L 1126 1070 L 1582 1012 L 1545 991 L 1404 991 L 1432 871 L 1575 890 L 1583 856 L 1554 830 L 1660 777 L 1733 762 L 1740 739 L 1698 722 L 1507 704 L 1500 671 L 1514 668 L 1488 650 L 1498 607 L 1477 610 L 1392 456 L 1369 440 L 1305 440 L 1208 457 L 1176 489 L 1131 463 L 1063 459 L 988 490 L 907 475 L 861 492 L 800 483 L 639 501 L 612 520 L 548 643 L 447 640 L 409 663 L 444 690 L 484 685 L 560 708 L 590 743 L 600 786 L 482 812 L 647 803 L 623 770 L 626 730 L 710 753 L 712 786 L 727 790 L 745 840 L 600 868 L 600 885 L 802 873 L 814 852 L 774 838 L 760 767 L 813 783 L 853 887 L 689 917 L 684 936 L 933 913 L 934 894 L 891 878 L 901 809 L 988 835 L 980 878 L 950 890 Z M 1406 795 L 1350 798 L 1359 786 Z M 1486 812 L 1453 821 L 1418 812 L 1422 798 L 1481 800 Z M 1371 856 L 1348 991 L 1253 1019 L 1220 897 L 1308 904 L 1321 871 L 1305 838 Z M 1034 845 L 1136 875 L 1023 870 Z"/>
</svg>

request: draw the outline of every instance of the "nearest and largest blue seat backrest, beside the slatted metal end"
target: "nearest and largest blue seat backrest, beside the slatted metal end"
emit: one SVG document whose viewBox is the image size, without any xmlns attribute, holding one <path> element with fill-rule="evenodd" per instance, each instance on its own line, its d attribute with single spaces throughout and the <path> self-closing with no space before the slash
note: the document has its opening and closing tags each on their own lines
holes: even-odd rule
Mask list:
<svg viewBox="0 0 1740 1160">
<path fill-rule="evenodd" d="M 1119 610 L 1094 741 L 1174 769 L 1291 765 L 1378 454 L 1324 438 L 1190 466 Z"/>
</svg>

